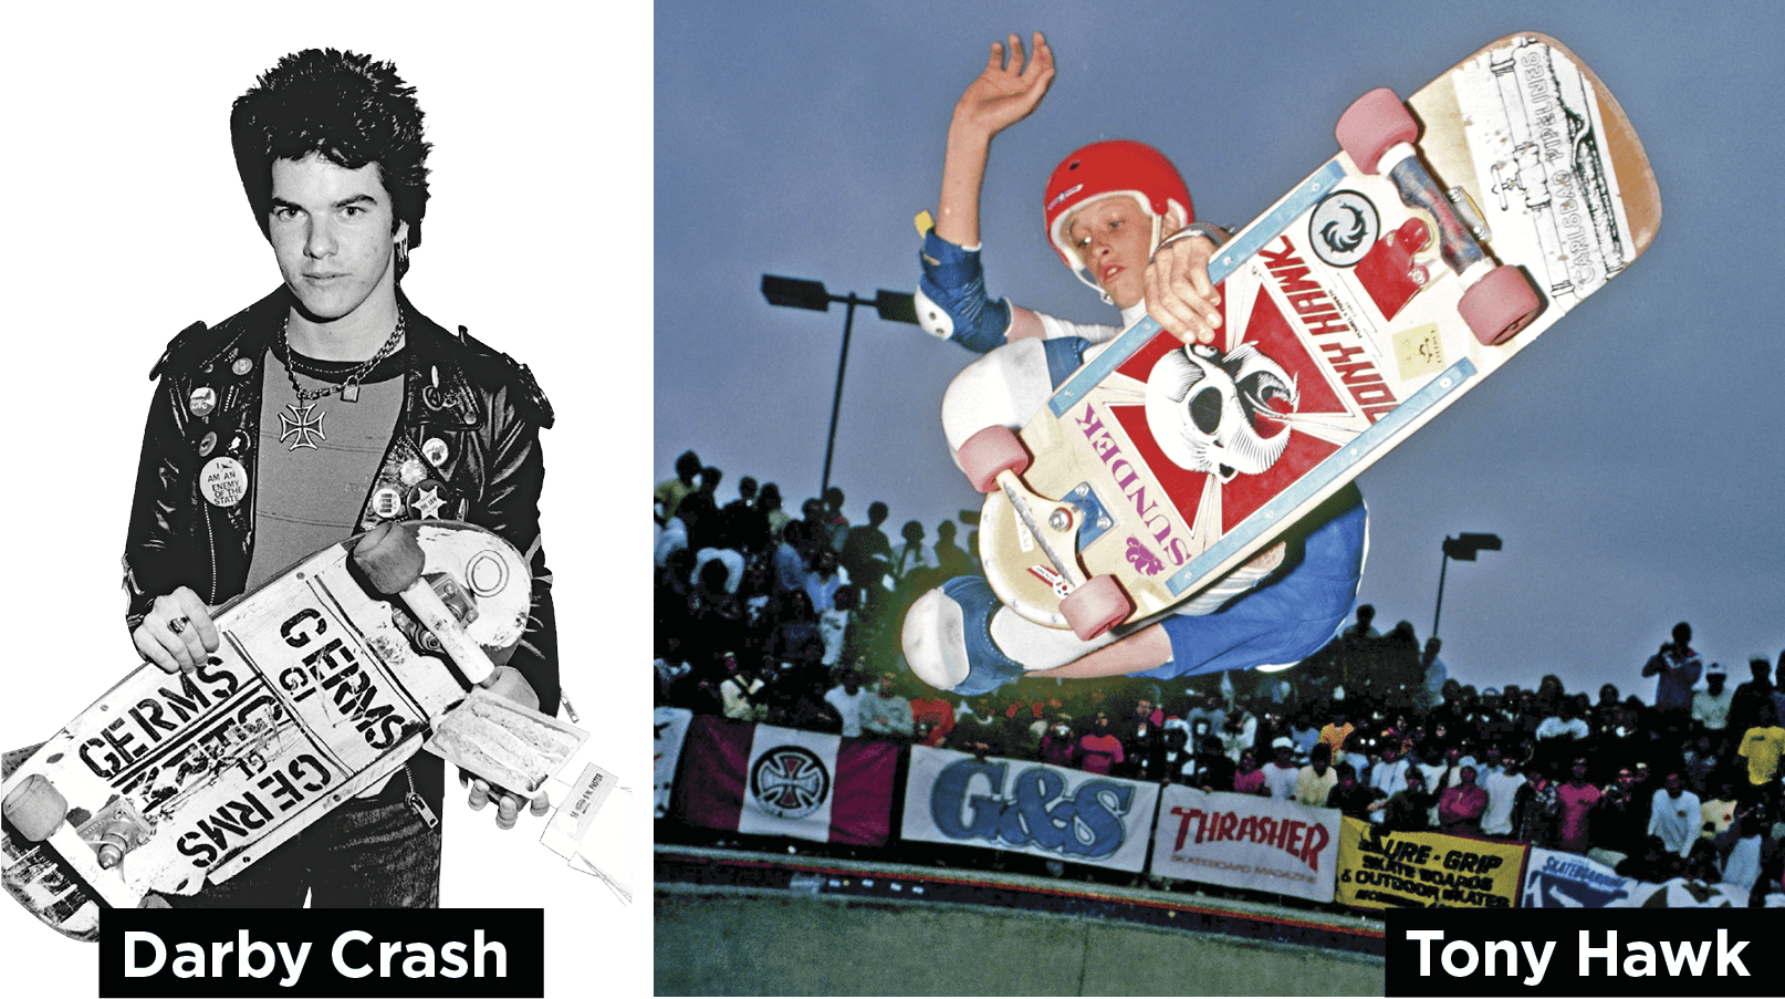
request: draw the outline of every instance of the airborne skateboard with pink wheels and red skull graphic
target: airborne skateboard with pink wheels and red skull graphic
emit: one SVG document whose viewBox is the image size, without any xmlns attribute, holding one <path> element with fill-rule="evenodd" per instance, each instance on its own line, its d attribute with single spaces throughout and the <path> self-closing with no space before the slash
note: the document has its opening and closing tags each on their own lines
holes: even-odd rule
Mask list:
<svg viewBox="0 0 1785 999">
<path fill-rule="evenodd" d="M 1337 138 L 1210 261 L 1214 345 L 1142 316 L 1019 434 L 962 443 L 1007 606 L 1091 638 L 1221 593 L 1660 225 L 1630 120 L 1544 36 L 1494 41 L 1405 104 L 1373 91 Z"/>
</svg>

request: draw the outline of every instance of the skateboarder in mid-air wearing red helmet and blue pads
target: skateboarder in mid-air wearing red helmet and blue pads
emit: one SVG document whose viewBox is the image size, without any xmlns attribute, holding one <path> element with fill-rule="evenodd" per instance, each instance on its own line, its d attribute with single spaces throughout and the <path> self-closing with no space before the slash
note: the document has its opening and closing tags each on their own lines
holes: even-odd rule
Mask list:
<svg viewBox="0 0 1785 999">
<path fill-rule="evenodd" d="M 1219 295 L 1208 257 L 1225 234 L 1198 223 L 1176 168 L 1151 147 L 1103 141 L 1067 155 L 1048 179 L 1044 218 L 1060 259 L 1121 309 L 1121 327 L 1085 325 L 991 300 L 980 268 L 978 200 L 991 139 L 1026 118 L 1053 82 L 1053 52 L 1037 32 L 992 43 L 985 71 L 955 104 L 935 227 L 923 241 L 917 313 L 925 329 L 984 354 L 950 384 L 942 429 L 950 452 L 975 432 L 1019 429 L 1067 375 L 1150 315 L 1185 343 L 1216 345 Z M 1092 640 L 1003 608 L 985 579 L 955 577 L 905 617 L 912 670 L 932 686 L 975 695 L 1017 677 L 1178 677 L 1294 665 L 1344 624 L 1364 568 L 1366 513 L 1346 486 L 1282 543 L 1217 581 L 1157 624 Z"/>
</svg>

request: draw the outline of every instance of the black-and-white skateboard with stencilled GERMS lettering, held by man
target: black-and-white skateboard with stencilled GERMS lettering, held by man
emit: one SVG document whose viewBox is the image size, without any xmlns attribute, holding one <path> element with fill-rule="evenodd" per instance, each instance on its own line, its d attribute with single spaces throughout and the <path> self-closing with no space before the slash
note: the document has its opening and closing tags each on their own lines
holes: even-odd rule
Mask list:
<svg viewBox="0 0 1785 999">
<path fill-rule="evenodd" d="M 482 527 L 330 545 L 225 604 L 195 672 L 139 665 L 5 754 L 0 883 L 91 942 L 102 906 L 227 881 L 419 749 L 560 804 L 573 790 L 553 776 L 587 733 L 478 686 L 530 608 L 527 559 Z"/>
</svg>

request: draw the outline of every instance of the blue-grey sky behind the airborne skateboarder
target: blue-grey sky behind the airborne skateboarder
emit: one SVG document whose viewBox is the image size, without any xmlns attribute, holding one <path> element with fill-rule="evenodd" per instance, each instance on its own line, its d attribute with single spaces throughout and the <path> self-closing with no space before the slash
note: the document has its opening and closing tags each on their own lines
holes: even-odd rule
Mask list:
<svg viewBox="0 0 1785 999">
<path fill-rule="evenodd" d="M 818 493 L 843 307 L 762 300 L 764 273 L 909 293 L 912 216 L 935 207 L 948 116 L 992 41 L 1048 36 L 1059 77 L 992 145 L 982 204 L 994 297 L 1116 322 L 1046 243 L 1041 184 L 1069 150 L 1133 138 L 1185 175 L 1198 216 L 1242 225 L 1333 154 L 1364 91 L 1410 93 L 1489 41 L 1557 38 L 1614 91 L 1665 206 L 1649 252 L 1358 483 L 1360 600 L 1432 629 L 1478 686 L 1562 676 L 1653 697 L 1644 659 L 1689 620 L 1746 679 L 1785 647 L 1785 347 L 1778 225 L 1758 184 L 1785 161 L 1764 4 L 769 4 L 660 2 L 653 52 L 652 483 L 694 449 L 787 506 Z M 889 529 L 976 509 L 937 411 L 973 356 L 859 311 L 832 483 Z"/>
</svg>

